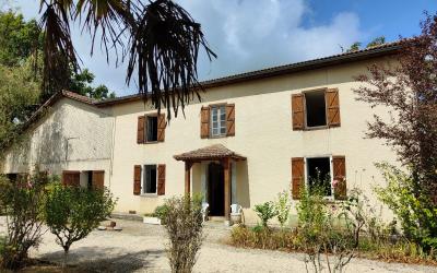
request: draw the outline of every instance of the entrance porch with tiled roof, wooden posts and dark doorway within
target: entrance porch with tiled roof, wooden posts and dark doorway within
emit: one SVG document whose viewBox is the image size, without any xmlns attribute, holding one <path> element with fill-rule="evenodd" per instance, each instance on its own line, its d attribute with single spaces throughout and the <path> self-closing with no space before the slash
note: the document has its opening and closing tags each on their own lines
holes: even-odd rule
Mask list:
<svg viewBox="0 0 437 273">
<path fill-rule="evenodd" d="M 174 158 L 185 162 L 185 193 L 191 194 L 191 170 L 198 164 L 200 192 L 210 205 L 210 216 L 223 216 L 229 221 L 231 204 L 236 203 L 237 163 L 245 162 L 246 157 L 222 144 L 215 144 L 175 155 Z"/>
</svg>

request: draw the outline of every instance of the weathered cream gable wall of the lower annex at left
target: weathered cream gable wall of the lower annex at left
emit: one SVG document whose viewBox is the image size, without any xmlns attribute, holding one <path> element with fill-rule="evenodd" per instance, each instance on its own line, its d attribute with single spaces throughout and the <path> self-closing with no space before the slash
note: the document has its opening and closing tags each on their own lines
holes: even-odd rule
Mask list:
<svg viewBox="0 0 437 273">
<path fill-rule="evenodd" d="M 105 185 L 109 186 L 113 121 L 108 109 L 61 98 L 26 131 L 24 141 L 7 153 L 3 173 L 28 173 L 36 165 L 56 175 L 105 170 Z"/>
</svg>

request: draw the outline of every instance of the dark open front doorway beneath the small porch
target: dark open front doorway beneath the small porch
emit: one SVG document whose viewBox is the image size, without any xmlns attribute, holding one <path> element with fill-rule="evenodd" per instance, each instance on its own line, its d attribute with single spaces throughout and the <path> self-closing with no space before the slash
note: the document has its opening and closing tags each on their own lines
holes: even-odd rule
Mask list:
<svg viewBox="0 0 437 273">
<path fill-rule="evenodd" d="M 225 215 L 225 182 L 221 164 L 211 163 L 208 166 L 208 200 L 210 203 L 210 216 Z"/>
</svg>

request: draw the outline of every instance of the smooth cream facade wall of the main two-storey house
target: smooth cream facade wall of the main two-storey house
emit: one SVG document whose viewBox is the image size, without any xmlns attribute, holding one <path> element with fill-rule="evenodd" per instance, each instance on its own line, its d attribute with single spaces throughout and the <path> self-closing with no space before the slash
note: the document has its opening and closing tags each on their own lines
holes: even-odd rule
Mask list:
<svg viewBox="0 0 437 273">
<path fill-rule="evenodd" d="M 381 141 L 364 139 L 366 122 L 382 108 L 357 102 L 354 76 L 366 72 L 367 62 L 355 62 L 208 90 L 202 102 L 193 102 L 173 118 L 164 143 L 137 144 L 137 118 L 154 112 L 142 102 L 111 108 L 115 117 L 115 145 L 111 191 L 119 198 L 116 210 L 149 213 L 165 198 L 184 193 L 184 163 L 174 155 L 221 143 L 247 157 L 237 163 L 237 202 L 245 207 L 246 221 L 257 217 L 255 204 L 275 199 L 291 187 L 291 158 L 344 155 L 347 187 L 358 187 L 375 201 L 371 186 L 381 183 L 374 163 L 395 162 Z M 314 131 L 292 130 L 291 95 L 320 87 L 336 87 L 340 94 L 341 127 Z M 200 108 L 209 104 L 235 104 L 235 136 L 200 138 Z M 164 197 L 133 195 L 133 166 L 166 164 Z M 200 165 L 192 169 L 192 189 L 201 189 Z"/>
</svg>

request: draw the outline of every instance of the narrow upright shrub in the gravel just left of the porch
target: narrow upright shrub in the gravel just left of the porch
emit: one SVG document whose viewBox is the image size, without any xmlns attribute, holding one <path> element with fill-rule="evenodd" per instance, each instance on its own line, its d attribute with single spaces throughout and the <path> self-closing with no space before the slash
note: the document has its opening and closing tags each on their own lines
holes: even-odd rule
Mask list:
<svg viewBox="0 0 437 273">
<path fill-rule="evenodd" d="M 169 238 L 172 272 L 191 272 L 203 241 L 202 198 L 185 195 L 166 200 L 164 227 Z"/>
</svg>

